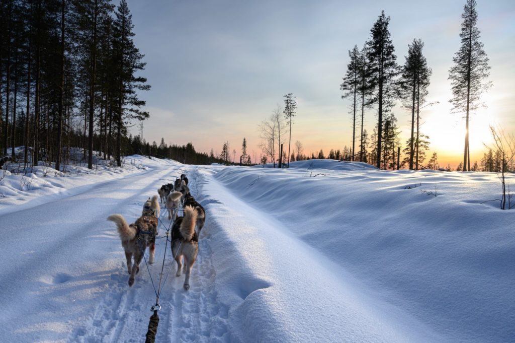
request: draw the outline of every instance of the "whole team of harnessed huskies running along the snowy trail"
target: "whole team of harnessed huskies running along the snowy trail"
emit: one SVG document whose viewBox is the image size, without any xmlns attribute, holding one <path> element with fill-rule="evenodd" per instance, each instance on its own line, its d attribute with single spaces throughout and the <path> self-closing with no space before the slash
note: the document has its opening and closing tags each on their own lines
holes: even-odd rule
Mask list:
<svg viewBox="0 0 515 343">
<path fill-rule="evenodd" d="M 122 215 L 111 215 L 107 218 L 116 224 L 122 240 L 127 259 L 127 271 L 130 274 L 129 286 L 134 284 L 134 277 L 140 271 L 140 263 L 147 248 L 149 248 L 148 263 L 154 263 L 156 252 L 156 236 L 158 235 L 158 218 L 161 212 L 159 206 L 164 203 L 168 211 L 168 220 L 173 220 L 171 227 L 171 254 L 177 262 L 176 276 L 181 275 L 184 258 L 184 289 L 190 289 L 190 274 L 198 255 L 198 238 L 205 222 L 204 208 L 192 197 L 187 186 L 186 175 L 181 174 L 174 184 L 166 184 L 158 189 L 159 197 L 154 195 L 143 205 L 141 217 L 128 224 Z M 182 204 L 184 215 L 178 217 L 179 206 Z M 195 226 L 197 231 L 195 231 Z M 134 258 L 134 264 L 132 264 Z"/>
</svg>

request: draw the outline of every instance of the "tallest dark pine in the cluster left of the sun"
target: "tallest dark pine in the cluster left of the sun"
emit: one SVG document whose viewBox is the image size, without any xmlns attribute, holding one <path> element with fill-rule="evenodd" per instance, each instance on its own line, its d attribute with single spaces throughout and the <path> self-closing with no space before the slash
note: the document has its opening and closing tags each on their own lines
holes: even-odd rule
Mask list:
<svg viewBox="0 0 515 343">
<path fill-rule="evenodd" d="M 377 102 L 377 158 L 376 167 L 381 168 L 381 149 L 383 138 L 383 114 L 389 113 L 396 97 L 396 77 L 399 74 L 397 57 L 390 39 L 388 23 L 390 17 L 382 11 L 379 19 L 370 30 L 368 45 L 371 82 L 374 86 L 374 101 Z"/>
</svg>

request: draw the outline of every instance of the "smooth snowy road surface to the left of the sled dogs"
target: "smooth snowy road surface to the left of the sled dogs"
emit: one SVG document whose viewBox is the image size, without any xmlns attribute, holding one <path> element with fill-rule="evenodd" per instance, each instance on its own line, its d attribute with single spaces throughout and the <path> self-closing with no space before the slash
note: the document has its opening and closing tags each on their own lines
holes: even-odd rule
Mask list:
<svg viewBox="0 0 515 343">
<path fill-rule="evenodd" d="M 81 323 L 91 321 L 97 304 L 97 312 L 103 306 L 118 313 L 110 318 L 111 323 L 123 321 L 124 303 L 140 296 L 138 288 L 148 276 L 143 266 L 135 287 L 129 289 L 125 267 L 121 268 L 123 249 L 106 218 L 121 213 L 133 221 L 141 214 L 145 199 L 182 171 L 158 166 L 88 187 L 71 197 L 4 214 L 2 226 L 9 231 L 0 242 L 3 339 L 80 341 L 91 333 Z M 104 341 L 116 341 L 117 325 L 103 327 L 95 320 L 93 315 L 95 330 L 104 329 L 102 336 L 113 338 Z M 99 336 L 83 341 L 99 341 Z"/>
</svg>

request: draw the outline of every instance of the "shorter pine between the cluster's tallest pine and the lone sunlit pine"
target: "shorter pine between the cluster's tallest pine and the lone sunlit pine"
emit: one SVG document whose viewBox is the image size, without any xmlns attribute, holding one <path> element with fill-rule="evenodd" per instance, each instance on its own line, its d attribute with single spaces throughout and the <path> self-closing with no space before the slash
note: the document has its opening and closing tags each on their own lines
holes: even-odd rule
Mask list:
<svg viewBox="0 0 515 343">
<path fill-rule="evenodd" d="M 406 62 L 402 68 L 402 76 L 400 79 L 400 90 L 404 107 L 411 109 L 411 139 L 409 140 L 409 169 L 411 170 L 414 169 L 413 161 L 416 148 L 414 146 L 415 113 L 417 113 L 418 123 L 420 106 L 425 101 L 429 78 L 432 73 L 431 69 L 427 67 L 425 57 L 422 55 L 423 46 L 424 43 L 420 39 L 414 39 L 413 43 L 408 45 L 408 56 L 405 57 Z"/>
</svg>

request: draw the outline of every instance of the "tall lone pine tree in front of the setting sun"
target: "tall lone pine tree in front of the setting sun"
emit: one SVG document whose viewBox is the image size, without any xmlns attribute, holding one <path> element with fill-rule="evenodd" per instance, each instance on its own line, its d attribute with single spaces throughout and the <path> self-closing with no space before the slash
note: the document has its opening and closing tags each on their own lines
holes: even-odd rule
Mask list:
<svg viewBox="0 0 515 343">
<path fill-rule="evenodd" d="M 491 87 L 486 79 L 490 75 L 488 57 L 479 41 L 476 0 L 467 0 L 461 14 L 461 46 L 453 57 L 454 66 L 449 70 L 453 97 L 449 102 L 453 111 L 465 113 L 465 151 L 463 171 L 470 170 L 469 119 L 470 112 L 478 108 L 479 96 Z"/>
</svg>

